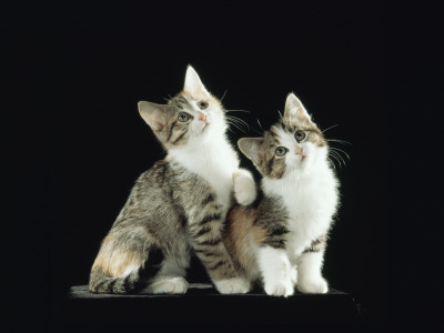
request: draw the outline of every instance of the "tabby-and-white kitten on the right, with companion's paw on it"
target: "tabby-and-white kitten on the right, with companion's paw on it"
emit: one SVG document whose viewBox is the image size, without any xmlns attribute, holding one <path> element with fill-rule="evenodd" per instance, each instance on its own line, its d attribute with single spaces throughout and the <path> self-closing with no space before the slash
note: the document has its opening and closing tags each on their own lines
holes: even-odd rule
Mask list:
<svg viewBox="0 0 444 333">
<path fill-rule="evenodd" d="M 303 293 L 326 293 L 321 269 L 339 182 L 321 130 L 291 93 L 278 124 L 238 144 L 263 175 L 263 198 L 231 210 L 224 232 L 230 253 L 269 295 L 289 296 L 295 284 Z"/>
</svg>

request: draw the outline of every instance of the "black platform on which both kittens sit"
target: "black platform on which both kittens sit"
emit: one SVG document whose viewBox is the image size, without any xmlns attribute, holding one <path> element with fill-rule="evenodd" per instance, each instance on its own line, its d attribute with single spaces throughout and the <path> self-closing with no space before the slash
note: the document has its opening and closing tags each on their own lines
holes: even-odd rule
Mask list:
<svg viewBox="0 0 444 333">
<path fill-rule="evenodd" d="M 359 325 L 361 321 L 352 296 L 336 290 L 322 295 L 296 292 L 284 299 L 258 292 L 221 295 L 210 284 L 191 284 L 185 295 L 90 294 L 87 285 L 79 285 L 70 289 L 54 329 L 219 326 L 238 332 L 242 327 Z"/>
</svg>

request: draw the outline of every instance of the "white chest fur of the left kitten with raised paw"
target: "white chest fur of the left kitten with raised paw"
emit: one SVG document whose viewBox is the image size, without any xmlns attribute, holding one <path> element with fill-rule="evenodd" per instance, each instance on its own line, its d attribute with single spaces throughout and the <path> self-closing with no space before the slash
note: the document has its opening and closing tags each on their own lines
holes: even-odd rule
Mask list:
<svg viewBox="0 0 444 333">
<path fill-rule="evenodd" d="M 228 211 L 233 191 L 232 176 L 239 169 L 239 159 L 226 140 L 173 149 L 168 158 L 206 180 L 215 191 L 219 203 Z"/>
</svg>

